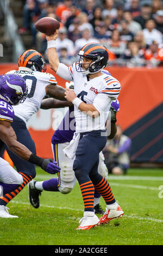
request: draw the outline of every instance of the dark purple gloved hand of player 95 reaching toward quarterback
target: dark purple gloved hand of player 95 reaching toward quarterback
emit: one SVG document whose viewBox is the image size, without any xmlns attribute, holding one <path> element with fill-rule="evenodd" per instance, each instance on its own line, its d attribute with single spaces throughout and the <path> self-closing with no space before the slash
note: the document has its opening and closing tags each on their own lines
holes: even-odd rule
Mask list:
<svg viewBox="0 0 163 256">
<path fill-rule="evenodd" d="M 44 159 L 42 162 L 42 169 L 51 174 L 60 172 L 60 167 L 57 166 L 57 162 L 52 159 Z"/>
</svg>

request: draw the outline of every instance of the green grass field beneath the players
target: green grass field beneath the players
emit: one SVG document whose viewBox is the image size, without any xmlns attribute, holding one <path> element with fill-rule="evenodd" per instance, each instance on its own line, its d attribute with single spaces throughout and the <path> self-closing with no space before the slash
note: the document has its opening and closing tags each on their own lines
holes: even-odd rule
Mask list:
<svg viewBox="0 0 163 256">
<path fill-rule="evenodd" d="M 35 180 L 50 178 L 54 175 L 37 168 Z M 130 169 L 127 175 L 109 175 L 108 180 L 123 218 L 76 230 L 83 217 L 78 183 L 66 195 L 44 191 L 39 209 L 29 204 L 25 187 L 8 204 L 10 214 L 19 218 L 0 219 L 0 245 L 163 245 L 163 170 Z M 105 208 L 103 198 L 100 203 Z"/>
</svg>

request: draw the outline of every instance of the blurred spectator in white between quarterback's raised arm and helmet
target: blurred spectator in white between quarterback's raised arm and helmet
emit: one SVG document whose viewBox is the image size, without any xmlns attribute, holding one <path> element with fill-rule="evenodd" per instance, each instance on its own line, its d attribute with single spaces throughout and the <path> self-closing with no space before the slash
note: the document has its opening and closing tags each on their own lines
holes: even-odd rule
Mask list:
<svg viewBox="0 0 163 256">
<path fill-rule="evenodd" d="M 74 44 L 73 41 L 67 38 L 67 29 L 66 27 L 61 27 L 58 31 L 58 38 L 56 39 L 57 52 L 60 57 L 60 49 L 66 48 L 68 56 L 74 55 Z"/>
</svg>

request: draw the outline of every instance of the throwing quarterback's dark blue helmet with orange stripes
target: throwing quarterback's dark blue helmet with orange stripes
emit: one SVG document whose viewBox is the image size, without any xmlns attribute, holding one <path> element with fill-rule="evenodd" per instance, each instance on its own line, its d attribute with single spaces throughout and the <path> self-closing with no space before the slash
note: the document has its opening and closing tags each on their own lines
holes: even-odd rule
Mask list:
<svg viewBox="0 0 163 256">
<path fill-rule="evenodd" d="M 78 72 L 83 72 L 84 75 L 96 73 L 108 64 L 109 54 L 105 46 L 91 42 L 83 46 L 83 48 L 78 52 L 80 56 L 79 63 L 76 65 Z M 89 65 L 89 68 L 83 69 L 83 57 L 90 58 L 92 62 Z"/>
</svg>

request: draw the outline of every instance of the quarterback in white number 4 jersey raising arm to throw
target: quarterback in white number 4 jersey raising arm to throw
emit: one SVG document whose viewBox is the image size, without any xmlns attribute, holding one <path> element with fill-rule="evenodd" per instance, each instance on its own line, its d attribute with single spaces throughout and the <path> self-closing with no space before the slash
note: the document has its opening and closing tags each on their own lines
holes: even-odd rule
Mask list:
<svg viewBox="0 0 163 256">
<path fill-rule="evenodd" d="M 74 159 L 73 170 L 84 202 L 84 217 L 78 229 L 85 230 L 123 215 L 108 181 L 98 173 L 99 153 L 106 144 L 105 121 L 112 100 L 120 93 L 121 84 L 116 78 L 101 72 L 109 58 L 103 45 L 86 44 L 78 53 L 79 62 L 68 68 L 59 62 L 57 36 L 58 31 L 47 36 L 48 59 L 60 77 L 74 82 L 74 91 L 66 89 L 65 98 L 74 105 L 76 132 L 64 153 Z M 100 219 L 93 211 L 95 188 L 106 203 L 105 214 Z"/>
</svg>

